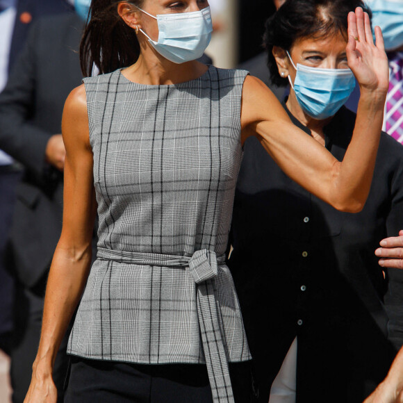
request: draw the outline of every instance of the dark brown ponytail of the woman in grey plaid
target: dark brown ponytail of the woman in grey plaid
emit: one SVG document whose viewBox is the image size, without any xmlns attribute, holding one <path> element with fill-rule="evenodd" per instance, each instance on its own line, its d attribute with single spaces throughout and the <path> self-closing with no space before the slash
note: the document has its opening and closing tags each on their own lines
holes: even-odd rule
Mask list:
<svg viewBox="0 0 403 403">
<path fill-rule="evenodd" d="M 127 0 L 141 7 L 143 0 Z M 133 28 L 117 14 L 122 0 L 92 0 L 91 18 L 85 25 L 80 44 L 80 65 L 84 76 L 90 76 L 96 65 L 101 74 L 135 63 L 140 45 Z"/>
</svg>

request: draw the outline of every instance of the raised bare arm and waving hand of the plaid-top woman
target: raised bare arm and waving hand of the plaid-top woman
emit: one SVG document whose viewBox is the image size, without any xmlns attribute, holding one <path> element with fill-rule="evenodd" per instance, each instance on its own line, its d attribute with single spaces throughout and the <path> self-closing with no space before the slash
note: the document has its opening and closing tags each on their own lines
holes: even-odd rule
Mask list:
<svg viewBox="0 0 403 403">
<path fill-rule="evenodd" d="M 365 36 L 366 33 L 366 36 Z M 354 40 L 359 38 L 359 42 Z M 379 27 L 377 46 L 368 15 L 349 15 L 347 58 L 361 88 L 356 125 L 339 162 L 289 119 L 261 81 L 247 77 L 242 94 L 242 140 L 256 134 L 281 169 L 301 186 L 342 211 L 360 211 L 368 197 L 388 90 L 388 60 Z"/>
</svg>

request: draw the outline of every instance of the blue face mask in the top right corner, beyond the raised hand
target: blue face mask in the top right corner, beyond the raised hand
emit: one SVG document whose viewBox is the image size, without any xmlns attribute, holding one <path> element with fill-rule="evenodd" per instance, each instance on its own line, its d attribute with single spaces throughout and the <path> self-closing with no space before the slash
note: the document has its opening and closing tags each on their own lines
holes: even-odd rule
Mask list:
<svg viewBox="0 0 403 403">
<path fill-rule="evenodd" d="M 403 45 L 403 0 L 367 0 L 372 26 L 380 26 L 386 50 Z"/>
</svg>

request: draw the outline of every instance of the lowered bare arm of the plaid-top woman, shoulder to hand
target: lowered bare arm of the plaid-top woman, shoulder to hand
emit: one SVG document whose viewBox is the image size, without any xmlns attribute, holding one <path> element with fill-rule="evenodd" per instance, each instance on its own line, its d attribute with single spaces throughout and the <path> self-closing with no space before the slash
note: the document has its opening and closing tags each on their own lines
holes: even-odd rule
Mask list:
<svg viewBox="0 0 403 403">
<path fill-rule="evenodd" d="M 66 148 L 63 230 L 49 272 L 42 334 L 26 403 L 56 402 L 51 371 L 90 269 L 96 202 L 83 85 L 67 98 L 62 131 Z"/>
</svg>

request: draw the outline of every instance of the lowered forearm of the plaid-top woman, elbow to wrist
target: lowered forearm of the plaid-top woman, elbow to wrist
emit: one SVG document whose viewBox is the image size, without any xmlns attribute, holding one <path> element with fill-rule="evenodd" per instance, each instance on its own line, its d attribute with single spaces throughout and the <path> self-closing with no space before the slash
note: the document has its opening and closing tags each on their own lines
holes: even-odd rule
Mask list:
<svg viewBox="0 0 403 403">
<path fill-rule="evenodd" d="M 56 248 L 44 301 L 42 334 L 34 368 L 50 375 L 58 347 L 81 298 L 91 263 L 91 245 L 81 248 Z"/>
</svg>

